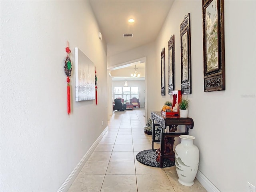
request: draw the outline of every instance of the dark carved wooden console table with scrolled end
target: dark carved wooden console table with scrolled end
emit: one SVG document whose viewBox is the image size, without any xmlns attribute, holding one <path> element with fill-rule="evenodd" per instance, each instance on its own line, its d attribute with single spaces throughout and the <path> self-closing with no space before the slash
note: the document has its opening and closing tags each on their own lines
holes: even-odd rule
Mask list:
<svg viewBox="0 0 256 192">
<path fill-rule="evenodd" d="M 174 161 L 174 137 L 180 135 L 188 135 L 188 129 L 194 127 L 192 118 L 180 118 L 180 116 L 162 116 L 161 112 L 151 112 L 152 118 L 152 150 L 154 150 L 154 142 L 160 142 L 160 149 L 156 151 L 158 156 L 156 160 L 160 162 L 160 168 L 163 167 L 163 159 L 168 158 Z M 157 122 L 157 123 L 155 123 Z M 176 132 L 178 125 L 185 126 L 185 132 Z M 155 126 L 161 127 L 160 140 L 155 139 Z M 166 132 L 166 127 L 169 126 L 169 132 Z"/>
</svg>

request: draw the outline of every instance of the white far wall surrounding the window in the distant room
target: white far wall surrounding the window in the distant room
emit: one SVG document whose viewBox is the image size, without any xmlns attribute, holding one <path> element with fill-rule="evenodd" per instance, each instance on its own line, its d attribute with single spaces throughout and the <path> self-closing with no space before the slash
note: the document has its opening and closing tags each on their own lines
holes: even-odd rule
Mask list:
<svg viewBox="0 0 256 192">
<path fill-rule="evenodd" d="M 138 87 L 139 88 L 139 97 L 140 98 L 140 108 L 144 108 L 144 100 L 145 100 L 145 81 L 127 81 L 128 87 Z M 114 94 L 114 87 L 123 87 L 124 81 L 112 81 L 113 90 L 112 94 Z M 115 99 L 113 97 L 113 99 Z M 126 99 L 126 96 L 124 96 Z M 130 102 L 128 100 L 128 102 Z"/>
</svg>

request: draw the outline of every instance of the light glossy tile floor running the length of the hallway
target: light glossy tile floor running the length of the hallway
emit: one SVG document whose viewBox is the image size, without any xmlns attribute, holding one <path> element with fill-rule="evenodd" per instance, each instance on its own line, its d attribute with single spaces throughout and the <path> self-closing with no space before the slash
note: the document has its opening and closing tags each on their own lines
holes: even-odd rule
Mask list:
<svg viewBox="0 0 256 192">
<path fill-rule="evenodd" d="M 190 187 L 180 184 L 175 166 L 161 169 L 136 160 L 138 152 L 152 147 L 151 135 L 144 133 L 144 114 L 138 108 L 114 112 L 68 192 L 206 192 L 197 179 Z"/>
</svg>

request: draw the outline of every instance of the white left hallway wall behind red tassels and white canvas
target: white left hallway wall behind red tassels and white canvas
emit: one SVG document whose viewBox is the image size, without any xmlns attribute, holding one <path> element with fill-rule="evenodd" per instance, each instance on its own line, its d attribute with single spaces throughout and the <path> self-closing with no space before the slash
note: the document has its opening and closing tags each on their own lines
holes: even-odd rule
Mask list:
<svg viewBox="0 0 256 192">
<path fill-rule="evenodd" d="M 98 32 L 88 1 L 1 1 L 1 191 L 57 191 L 106 128 L 106 44 Z M 97 67 L 97 106 L 75 102 L 76 46 Z"/>
</svg>

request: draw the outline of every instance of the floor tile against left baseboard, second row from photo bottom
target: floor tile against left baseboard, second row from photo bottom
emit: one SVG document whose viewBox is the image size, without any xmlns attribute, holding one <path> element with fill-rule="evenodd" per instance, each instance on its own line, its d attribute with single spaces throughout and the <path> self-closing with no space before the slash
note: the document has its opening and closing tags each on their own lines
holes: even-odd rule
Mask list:
<svg viewBox="0 0 256 192">
<path fill-rule="evenodd" d="M 105 175 L 108 161 L 87 161 L 79 174 Z"/>
</svg>

